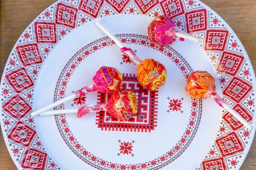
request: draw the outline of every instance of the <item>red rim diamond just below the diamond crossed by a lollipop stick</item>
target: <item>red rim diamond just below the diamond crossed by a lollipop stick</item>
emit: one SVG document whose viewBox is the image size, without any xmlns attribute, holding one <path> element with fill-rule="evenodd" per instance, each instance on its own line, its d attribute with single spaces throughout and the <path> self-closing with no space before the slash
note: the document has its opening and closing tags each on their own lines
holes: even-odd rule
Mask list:
<svg viewBox="0 0 256 170">
<path fill-rule="evenodd" d="M 231 132 L 228 135 L 218 138 L 216 143 L 220 153 L 224 157 L 244 151 L 244 146 L 235 132 Z"/>
</svg>

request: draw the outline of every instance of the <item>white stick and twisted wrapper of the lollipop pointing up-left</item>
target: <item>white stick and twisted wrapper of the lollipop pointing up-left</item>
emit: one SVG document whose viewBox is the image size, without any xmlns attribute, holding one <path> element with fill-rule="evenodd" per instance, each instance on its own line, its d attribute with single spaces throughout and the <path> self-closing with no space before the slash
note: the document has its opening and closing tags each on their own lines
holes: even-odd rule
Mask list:
<svg viewBox="0 0 256 170">
<path fill-rule="evenodd" d="M 120 48 L 120 50 L 124 53 L 126 53 L 131 60 L 133 60 L 133 62 L 137 65 L 139 65 L 139 63 L 141 62 L 140 58 L 138 58 L 138 56 L 135 54 L 134 51 L 132 51 L 131 49 L 126 48 L 121 41 L 118 40 L 117 37 L 115 37 L 113 34 L 111 34 L 106 28 L 103 27 L 103 25 L 101 25 L 99 22 L 95 22 L 95 24 L 98 26 L 98 28 L 103 31 L 105 34 L 107 34 Z"/>
</svg>

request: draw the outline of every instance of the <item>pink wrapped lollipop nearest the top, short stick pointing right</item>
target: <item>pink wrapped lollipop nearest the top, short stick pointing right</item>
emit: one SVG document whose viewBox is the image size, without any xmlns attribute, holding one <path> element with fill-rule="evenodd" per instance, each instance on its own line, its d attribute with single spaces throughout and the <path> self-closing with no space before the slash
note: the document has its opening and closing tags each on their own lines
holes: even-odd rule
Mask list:
<svg viewBox="0 0 256 170">
<path fill-rule="evenodd" d="M 152 42 L 159 46 L 172 44 L 177 37 L 200 42 L 201 39 L 188 34 L 179 33 L 174 21 L 167 16 L 156 17 L 148 26 L 148 35 Z"/>
</svg>

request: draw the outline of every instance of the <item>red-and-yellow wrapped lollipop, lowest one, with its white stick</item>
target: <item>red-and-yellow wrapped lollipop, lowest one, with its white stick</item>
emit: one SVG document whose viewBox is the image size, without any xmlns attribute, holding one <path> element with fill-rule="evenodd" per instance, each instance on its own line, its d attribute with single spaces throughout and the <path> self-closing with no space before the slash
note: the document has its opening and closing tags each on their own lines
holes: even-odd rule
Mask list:
<svg viewBox="0 0 256 170">
<path fill-rule="evenodd" d="M 120 90 L 112 94 L 105 104 L 86 104 L 79 109 L 52 110 L 40 113 L 40 116 L 77 113 L 81 118 L 90 112 L 107 111 L 112 117 L 127 121 L 138 113 L 138 101 L 132 91 Z"/>
</svg>

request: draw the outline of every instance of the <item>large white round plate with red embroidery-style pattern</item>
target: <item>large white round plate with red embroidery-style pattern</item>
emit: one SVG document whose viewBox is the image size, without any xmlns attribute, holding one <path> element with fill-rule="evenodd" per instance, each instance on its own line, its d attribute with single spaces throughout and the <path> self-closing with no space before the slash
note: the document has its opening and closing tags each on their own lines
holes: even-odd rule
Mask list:
<svg viewBox="0 0 256 170">
<path fill-rule="evenodd" d="M 173 18 L 177 39 L 155 46 L 147 36 L 154 17 Z M 165 65 L 167 83 L 141 90 L 137 66 L 94 24 L 100 21 L 141 58 Z M 31 118 L 32 110 L 92 84 L 101 66 L 117 68 L 124 88 L 134 91 L 139 114 L 119 122 L 104 112 Z M 189 73 L 207 70 L 217 93 L 253 125 L 255 75 L 239 39 L 213 10 L 197 0 L 59 0 L 22 33 L 1 80 L 1 128 L 21 169 L 47 170 L 230 170 L 239 169 L 255 130 L 248 130 L 213 100 L 195 100 L 184 87 Z M 103 103 L 93 92 L 55 109 Z"/>
</svg>

